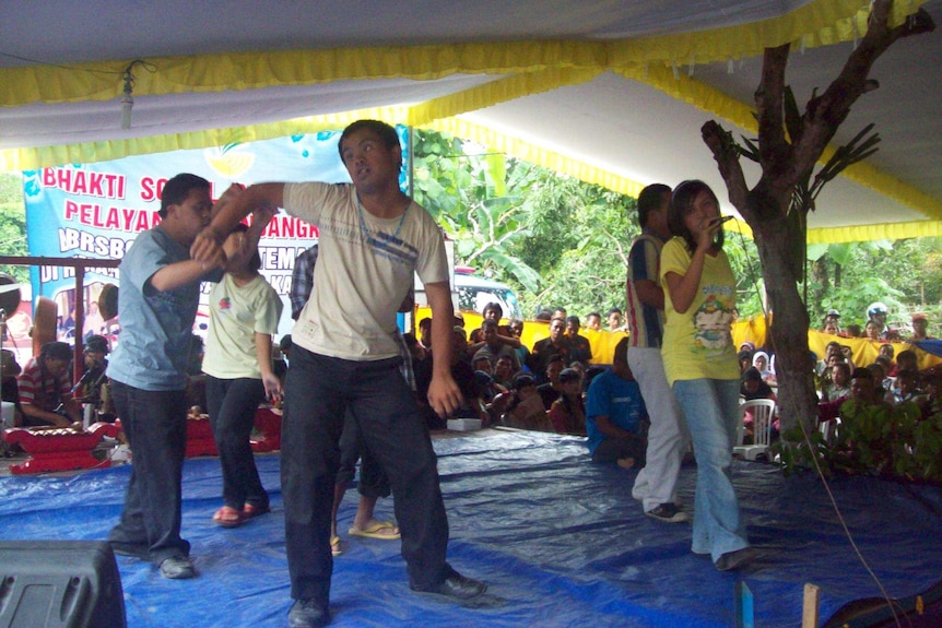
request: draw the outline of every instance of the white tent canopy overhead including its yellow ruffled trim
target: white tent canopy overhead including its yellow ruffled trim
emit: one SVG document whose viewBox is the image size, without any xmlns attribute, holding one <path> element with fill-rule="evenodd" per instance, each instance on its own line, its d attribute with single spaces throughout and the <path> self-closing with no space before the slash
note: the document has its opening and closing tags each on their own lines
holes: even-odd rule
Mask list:
<svg viewBox="0 0 942 628">
<path fill-rule="evenodd" d="M 942 17 L 942 0 L 897 0 L 894 20 L 919 7 Z M 837 76 L 867 15 L 860 0 L 5 2 L 0 170 L 369 116 L 627 193 L 685 178 L 722 192 L 699 128 L 717 119 L 755 137 L 763 48 L 792 43 L 787 81 L 804 103 Z M 942 234 L 940 60 L 942 36 L 930 33 L 874 66 L 881 88 L 861 97 L 835 145 L 874 122 L 880 151 L 820 197 L 811 241 Z"/>
</svg>

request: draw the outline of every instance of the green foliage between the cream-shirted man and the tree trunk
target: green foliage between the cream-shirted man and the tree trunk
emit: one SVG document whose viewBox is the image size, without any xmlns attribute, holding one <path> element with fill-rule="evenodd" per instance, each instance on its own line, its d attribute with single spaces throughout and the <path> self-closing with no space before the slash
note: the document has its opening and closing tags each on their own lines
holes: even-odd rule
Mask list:
<svg viewBox="0 0 942 628">
<path fill-rule="evenodd" d="M 416 131 L 414 195 L 455 240 L 456 263 L 514 287 L 528 316 L 625 308 L 625 268 L 640 233 L 637 201 L 460 140 Z M 727 238 L 740 313 L 761 312 L 755 245 Z"/>
</svg>

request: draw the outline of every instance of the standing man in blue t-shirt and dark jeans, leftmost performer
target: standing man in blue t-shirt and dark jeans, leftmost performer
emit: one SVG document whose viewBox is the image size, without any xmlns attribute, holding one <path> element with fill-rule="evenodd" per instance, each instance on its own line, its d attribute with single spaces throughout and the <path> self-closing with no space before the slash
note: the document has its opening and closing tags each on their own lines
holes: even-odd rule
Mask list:
<svg viewBox="0 0 942 628">
<path fill-rule="evenodd" d="M 222 256 L 197 261 L 189 247 L 210 223 L 210 182 L 177 175 L 164 186 L 161 223 L 140 234 L 121 261 L 121 342 L 107 375 L 134 469 L 115 553 L 149 559 L 164 578 L 196 576 L 180 536 L 187 440 L 187 356 L 200 282 L 222 279 Z"/>
</svg>

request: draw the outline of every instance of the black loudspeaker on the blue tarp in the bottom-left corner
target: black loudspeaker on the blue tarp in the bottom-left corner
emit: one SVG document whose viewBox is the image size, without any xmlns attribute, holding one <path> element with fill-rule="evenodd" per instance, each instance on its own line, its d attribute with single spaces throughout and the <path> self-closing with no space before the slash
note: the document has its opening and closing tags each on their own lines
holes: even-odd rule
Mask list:
<svg viewBox="0 0 942 628">
<path fill-rule="evenodd" d="M 103 541 L 0 541 L 0 628 L 126 628 Z"/>
</svg>

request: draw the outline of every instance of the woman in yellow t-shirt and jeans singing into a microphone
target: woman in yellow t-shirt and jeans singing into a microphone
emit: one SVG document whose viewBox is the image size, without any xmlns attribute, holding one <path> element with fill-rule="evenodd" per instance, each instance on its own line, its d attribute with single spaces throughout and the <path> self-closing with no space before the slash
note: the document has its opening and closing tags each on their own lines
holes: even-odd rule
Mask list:
<svg viewBox="0 0 942 628">
<path fill-rule="evenodd" d="M 664 371 L 684 410 L 697 461 L 694 554 L 721 571 L 755 557 L 730 482 L 739 417 L 739 365 L 730 333 L 735 277 L 722 250 L 719 201 L 703 181 L 673 191 L 661 251 Z"/>
</svg>

